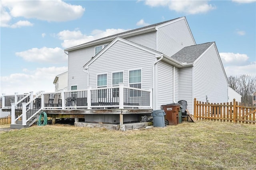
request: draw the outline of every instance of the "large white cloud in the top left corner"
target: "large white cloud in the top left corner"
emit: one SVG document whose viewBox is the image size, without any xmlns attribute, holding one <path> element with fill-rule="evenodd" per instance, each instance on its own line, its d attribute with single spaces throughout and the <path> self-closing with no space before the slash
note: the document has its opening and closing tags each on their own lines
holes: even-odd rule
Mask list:
<svg viewBox="0 0 256 170">
<path fill-rule="evenodd" d="M 65 22 L 76 20 L 84 14 L 85 8 L 71 5 L 61 0 L 2 0 L 1 26 L 10 27 L 13 17 L 36 18 L 48 22 Z M 19 26 L 28 26 L 28 21 L 22 21 Z M 22 25 L 25 24 L 25 25 Z M 31 24 L 31 23 L 30 23 Z M 30 25 L 29 25 L 30 26 Z"/>
</svg>

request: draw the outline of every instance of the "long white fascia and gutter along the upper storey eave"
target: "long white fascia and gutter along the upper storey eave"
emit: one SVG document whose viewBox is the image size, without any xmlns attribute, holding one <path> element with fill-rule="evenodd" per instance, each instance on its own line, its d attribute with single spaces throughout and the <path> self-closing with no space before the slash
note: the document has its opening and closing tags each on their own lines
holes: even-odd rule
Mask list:
<svg viewBox="0 0 256 170">
<path fill-rule="evenodd" d="M 74 50 L 77 50 L 77 49 L 86 48 L 87 46 L 91 46 L 91 45 L 96 44 L 96 43 L 109 41 L 109 40 L 112 40 L 112 39 L 114 39 L 116 37 L 132 36 L 133 34 L 136 35 L 136 34 L 138 34 L 140 32 L 146 32 L 146 31 L 155 30 L 155 29 L 156 29 L 156 27 L 153 26 L 153 27 L 142 29 L 142 30 L 136 30 L 136 31 L 133 31 L 133 32 L 128 32 L 128 33 L 120 34 L 118 36 L 113 35 L 113 36 L 109 36 L 109 37 L 106 37 L 106 38 L 100 38 L 99 40 L 95 40 L 95 41 L 92 41 L 92 42 L 76 45 L 74 47 L 66 48 L 66 49 L 64 49 L 64 51 L 74 51 Z"/>
</svg>

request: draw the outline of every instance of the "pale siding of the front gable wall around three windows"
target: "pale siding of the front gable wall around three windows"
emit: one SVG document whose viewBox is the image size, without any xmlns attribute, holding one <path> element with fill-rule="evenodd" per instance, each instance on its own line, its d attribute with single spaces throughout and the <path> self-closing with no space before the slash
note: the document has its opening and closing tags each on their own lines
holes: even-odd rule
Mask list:
<svg viewBox="0 0 256 170">
<path fill-rule="evenodd" d="M 97 75 L 108 74 L 108 87 L 112 86 L 112 73 L 124 72 L 124 85 L 128 86 L 130 70 L 142 69 L 142 89 L 152 88 L 155 55 L 142 49 L 117 41 L 100 55 L 88 68 L 90 86 L 97 87 Z"/>
</svg>

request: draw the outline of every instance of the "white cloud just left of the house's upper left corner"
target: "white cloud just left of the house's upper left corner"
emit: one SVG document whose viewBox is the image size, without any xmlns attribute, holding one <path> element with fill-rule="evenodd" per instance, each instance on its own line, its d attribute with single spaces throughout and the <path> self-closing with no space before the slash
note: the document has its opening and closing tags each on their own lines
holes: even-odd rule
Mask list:
<svg viewBox="0 0 256 170">
<path fill-rule="evenodd" d="M 22 57 L 26 61 L 39 63 L 61 63 L 67 62 L 68 56 L 63 49 L 42 47 L 28 49 L 26 51 L 16 52 L 17 56 Z"/>
</svg>

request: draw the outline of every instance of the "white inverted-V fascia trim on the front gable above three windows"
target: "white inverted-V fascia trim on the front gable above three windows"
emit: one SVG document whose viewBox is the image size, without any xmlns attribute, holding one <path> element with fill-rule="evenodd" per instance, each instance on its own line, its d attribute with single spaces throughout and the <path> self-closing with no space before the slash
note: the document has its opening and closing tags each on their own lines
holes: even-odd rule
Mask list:
<svg viewBox="0 0 256 170">
<path fill-rule="evenodd" d="M 91 63 L 93 63 L 98 57 L 100 57 L 100 55 L 102 55 L 105 51 L 107 51 L 107 50 L 108 50 L 112 45 L 114 45 L 114 43 L 116 43 L 117 41 L 127 43 L 127 44 L 129 44 L 129 45 L 132 45 L 132 46 L 134 46 L 134 47 L 137 47 L 137 48 L 139 48 L 139 49 L 142 49 L 142 50 L 144 50 L 144 51 L 147 51 L 147 52 L 149 52 L 149 53 L 152 53 L 152 54 L 156 55 L 156 57 L 161 57 L 161 54 L 162 54 L 162 53 L 160 53 L 160 52 L 158 52 L 158 51 L 154 51 L 154 50 L 152 50 L 152 49 L 150 49 L 150 48 L 148 48 L 148 47 L 144 47 L 144 46 L 142 46 L 142 45 L 139 45 L 139 44 L 134 43 L 134 42 L 130 42 L 130 41 L 125 40 L 125 39 L 123 39 L 123 38 L 116 37 L 116 38 L 115 38 L 112 42 L 110 42 L 104 49 L 102 49 L 97 55 L 95 55 L 95 56 L 93 57 L 93 59 L 91 59 L 88 63 L 86 63 L 86 65 L 84 65 L 84 68 L 87 69 L 88 66 L 89 66 Z"/>
</svg>

